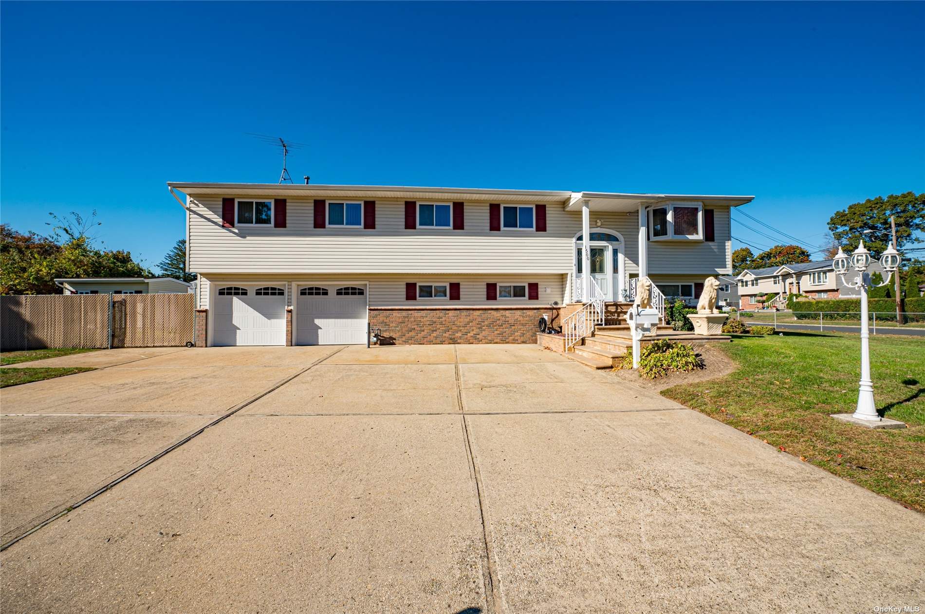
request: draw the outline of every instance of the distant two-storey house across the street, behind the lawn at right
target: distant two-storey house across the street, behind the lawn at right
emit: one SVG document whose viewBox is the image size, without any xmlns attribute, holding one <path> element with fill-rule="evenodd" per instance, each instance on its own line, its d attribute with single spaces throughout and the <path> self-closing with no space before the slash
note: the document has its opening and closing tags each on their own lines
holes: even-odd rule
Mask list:
<svg viewBox="0 0 925 614">
<path fill-rule="evenodd" d="M 870 274 L 883 273 L 880 262 L 872 260 Z M 845 274 L 845 281 L 854 282 L 857 271 Z M 859 296 L 856 288 L 850 288 L 835 274 L 832 260 L 800 262 L 764 269 L 746 269 L 735 278 L 738 282 L 739 307 L 757 309 L 762 304 L 756 300 L 759 294 L 774 295 L 774 304 L 783 307 L 787 295 L 792 293 L 806 295 L 809 298 L 855 298 Z M 771 302 L 764 305 L 771 306 Z"/>
</svg>

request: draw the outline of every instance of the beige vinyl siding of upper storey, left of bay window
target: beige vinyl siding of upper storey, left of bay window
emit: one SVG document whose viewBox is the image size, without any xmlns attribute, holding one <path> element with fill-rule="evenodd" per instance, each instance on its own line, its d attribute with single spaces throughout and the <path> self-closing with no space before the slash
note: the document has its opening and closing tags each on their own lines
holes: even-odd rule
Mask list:
<svg viewBox="0 0 925 614">
<path fill-rule="evenodd" d="M 490 232 L 486 202 L 465 203 L 464 231 L 405 230 L 404 201 L 376 201 L 376 230 L 315 229 L 311 199 L 288 200 L 287 228 L 223 228 L 220 198 L 191 198 L 190 205 L 190 268 L 210 273 L 567 273 L 573 237 L 581 231 L 580 211 L 561 204 L 547 205 L 545 233 Z M 601 228 L 623 235 L 627 271 L 637 271 L 636 217 L 635 211 L 591 212 L 592 226 L 600 220 Z"/>
</svg>

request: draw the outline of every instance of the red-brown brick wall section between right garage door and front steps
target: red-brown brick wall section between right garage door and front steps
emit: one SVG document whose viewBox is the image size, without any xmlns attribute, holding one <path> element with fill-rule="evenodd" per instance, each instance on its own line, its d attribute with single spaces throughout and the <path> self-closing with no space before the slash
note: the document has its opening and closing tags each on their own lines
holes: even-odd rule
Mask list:
<svg viewBox="0 0 925 614">
<path fill-rule="evenodd" d="M 536 343 L 536 322 L 551 307 L 370 307 L 382 344 Z M 557 319 L 558 321 L 558 319 Z"/>
</svg>

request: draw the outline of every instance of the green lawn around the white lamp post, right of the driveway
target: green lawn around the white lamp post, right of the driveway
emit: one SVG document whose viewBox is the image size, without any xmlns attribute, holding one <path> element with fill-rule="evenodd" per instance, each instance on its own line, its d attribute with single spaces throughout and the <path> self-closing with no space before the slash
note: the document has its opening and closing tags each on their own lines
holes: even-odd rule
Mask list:
<svg viewBox="0 0 925 614">
<path fill-rule="evenodd" d="M 874 396 L 899 430 L 836 421 L 857 403 L 857 334 L 734 335 L 718 343 L 739 364 L 729 376 L 662 393 L 774 447 L 925 512 L 925 341 L 871 337 Z"/>
</svg>

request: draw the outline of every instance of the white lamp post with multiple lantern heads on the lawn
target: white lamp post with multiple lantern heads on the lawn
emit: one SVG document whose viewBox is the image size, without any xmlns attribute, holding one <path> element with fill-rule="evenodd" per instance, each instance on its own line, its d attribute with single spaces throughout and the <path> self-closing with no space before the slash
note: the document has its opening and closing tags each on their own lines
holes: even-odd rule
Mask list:
<svg viewBox="0 0 925 614">
<path fill-rule="evenodd" d="M 832 266 L 835 273 L 841 276 L 842 283 L 849 288 L 857 288 L 861 292 L 861 379 L 857 391 L 857 409 L 853 418 L 856 420 L 866 420 L 870 422 L 880 422 L 882 418 L 877 413 L 877 408 L 873 403 L 873 381 L 870 379 L 870 330 L 868 328 L 868 289 L 871 287 L 881 287 L 890 283 L 893 273 L 899 269 L 899 253 L 892 247 L 887 247 L 880 257 L 880 264 L 887 276 L 883 283 L 876 286 L 870 283 L 870 252 L 864 247 L 864 241 L 860 242 L 857 249 L 852 252 L 849 259 L 842 248 L 838 248 L 838 254 L 833 259 Z M 855 283 L 845 282 L 845 274 L 851 266 L 857 271 Z"/>
</svg>

